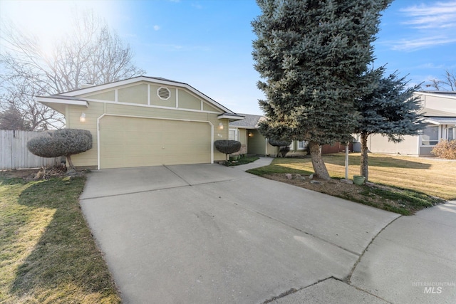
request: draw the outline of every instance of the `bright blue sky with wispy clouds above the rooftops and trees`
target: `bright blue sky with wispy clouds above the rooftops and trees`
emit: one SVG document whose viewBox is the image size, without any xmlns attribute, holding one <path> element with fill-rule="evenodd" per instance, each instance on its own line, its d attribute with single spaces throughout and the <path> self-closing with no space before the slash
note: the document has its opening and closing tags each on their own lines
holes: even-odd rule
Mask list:
<svg viewBox="0 0 456 304">
<path fill-rule="evenodd" d="M 234 112 L 262 114 L 251 55 L 250 22 L 260 14 L 254 0 L 0 0 L 2 19 L 43 41 L 83 9 L 130 44 L 146 75 L 188 83 Z M 376 66 L 388 63 L 388 73 L 408 75 L 410 85 L 456 72 L 456 1 L 393 1 L 383 12 L 375 56 Z"/>
</svg>

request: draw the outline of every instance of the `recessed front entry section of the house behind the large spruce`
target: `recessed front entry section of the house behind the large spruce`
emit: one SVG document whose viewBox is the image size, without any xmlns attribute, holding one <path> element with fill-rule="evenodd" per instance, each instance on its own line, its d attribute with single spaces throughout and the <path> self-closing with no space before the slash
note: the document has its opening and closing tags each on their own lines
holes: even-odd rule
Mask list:
<svg viewBox="0 0 456 304">
<path fill-rule="evenodd" d="M 257 155 L 271 155 L 276 156 L 279 152 L 278 147 L 269 145 L 266 137 L 261 135 L 258 130 L 259 122 L 266 119 L 262 115 L 239 114 L 244 116 L 244 120 L 237 120 L 229 122 L 229 139 L 238 140 L 241 142 L 241 151 L 239 154 L 257 154 Z M 352 144 L 350 144 L 352 149 Z M 321 153 L 337 153 L 345 151 L 345 146 L 340 143 L 335 145 L 323 145 Z M 307 143 L 305 141 L 293 141 L 290 145 L 290 152 L 287 156 L 306 155 Z"/>
</svg>

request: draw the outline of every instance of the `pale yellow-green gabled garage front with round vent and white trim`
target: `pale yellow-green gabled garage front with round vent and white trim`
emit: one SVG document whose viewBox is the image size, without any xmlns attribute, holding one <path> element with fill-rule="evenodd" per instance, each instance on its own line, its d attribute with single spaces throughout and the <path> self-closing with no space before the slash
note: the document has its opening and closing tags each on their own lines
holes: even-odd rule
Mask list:
<svg viewBox="0 0 456 304">
<path fill-rule="evenodd" d="M 242 117 L 187 83 L 138 76 L 37 100 L 61 112 L 66 127 L 89 130 L 93 148 L 76 167 L 121 168 L 213 163 L 225 159 L 215 140 Z"/>
</svg>

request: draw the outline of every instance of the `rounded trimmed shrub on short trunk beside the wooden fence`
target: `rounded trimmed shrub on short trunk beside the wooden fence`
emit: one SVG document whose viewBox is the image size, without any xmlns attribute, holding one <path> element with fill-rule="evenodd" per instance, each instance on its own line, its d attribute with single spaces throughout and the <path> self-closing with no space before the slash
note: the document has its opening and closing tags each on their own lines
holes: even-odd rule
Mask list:
<svg viewBox="0 0 456 304">
<path fill-rule="evenodd" d="M 41 157 L 64 156 L 71 169 L 71 155 L 92 149 L 92 134 L 88 130 L 61 129 L 46 131 L 27 142 L 28 151 Z"/>
</svg>

